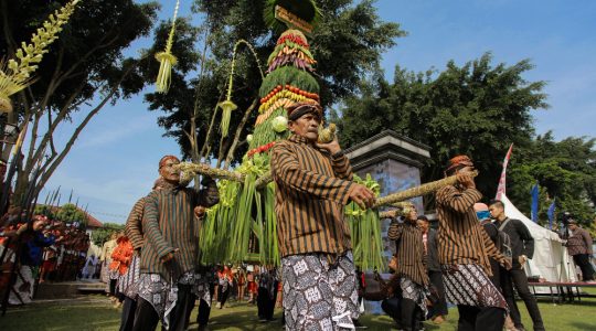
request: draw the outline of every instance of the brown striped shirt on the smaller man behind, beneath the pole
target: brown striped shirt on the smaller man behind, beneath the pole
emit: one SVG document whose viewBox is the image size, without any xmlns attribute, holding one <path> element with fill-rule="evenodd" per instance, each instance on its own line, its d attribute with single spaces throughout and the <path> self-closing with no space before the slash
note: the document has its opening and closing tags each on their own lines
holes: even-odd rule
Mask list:
<svg viewBox="0 0 596 331">
<path fill-rule="evenodd" d="M 397 276 L 406 276 L 412 281 L 427 286 L 428 275 L 426 273 L 424 244 L 422 231 L 415 224 L 398 223 L 396 220 L 391 222 L 387 237 L 390 241 L 398 241 L 397 256 Z"/>
</svg>

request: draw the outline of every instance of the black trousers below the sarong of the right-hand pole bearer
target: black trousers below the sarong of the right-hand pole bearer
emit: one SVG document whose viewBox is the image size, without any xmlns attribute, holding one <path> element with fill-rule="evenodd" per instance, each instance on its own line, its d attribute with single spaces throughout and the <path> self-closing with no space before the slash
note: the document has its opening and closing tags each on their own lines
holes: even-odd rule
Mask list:
<svg viewBox="0 0 596 331">
<path fill-rule="evenodd" d="M 458 305 L 458 331 L 502 331 L 505 310 L 497 307 L 479 308 Z"/>
</svg>

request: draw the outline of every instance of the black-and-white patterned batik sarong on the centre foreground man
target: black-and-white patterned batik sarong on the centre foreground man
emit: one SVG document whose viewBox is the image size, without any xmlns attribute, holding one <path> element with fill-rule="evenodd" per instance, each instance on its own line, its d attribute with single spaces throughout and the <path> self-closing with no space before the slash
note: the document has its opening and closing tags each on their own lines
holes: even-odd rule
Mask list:
<svg viewBox="0 0 596 331">
<path fill-rule="evenodd" d="M 353 330 L 359 318 L 352 253 L 281 258 L 286 330 Z"/>
</svg>

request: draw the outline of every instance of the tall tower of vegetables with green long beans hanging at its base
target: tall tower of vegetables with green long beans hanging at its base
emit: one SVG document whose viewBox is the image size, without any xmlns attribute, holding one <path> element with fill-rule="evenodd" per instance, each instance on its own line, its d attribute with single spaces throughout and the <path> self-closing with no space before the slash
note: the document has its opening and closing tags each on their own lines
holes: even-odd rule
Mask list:
<svg viewBox="0 0 596 331">
<path fill-rule="evenodd" d="M 305 33 L 310 33 L 320 12 L 315 1 L 266 0 L 264 18 L 269 26 L 281 33 L 268 57 L 266 76 L 258 90 L 258 107 L 254 131 L 246 137 L 248 152 L 235 171 L 206 169 L 206 164 L 181 164 L 181 170 L 220 178 L 221 202 L 207 210 L 200 233 L 201 261 L 259 261 L 278 265 L 279 252 L 275 215 L 275 183 L 270 180 L 270 150 L 278 140 L 286 139 L 287 107 L 296 102 L 319 104 L 319 84 L 313 77 L 315 61 Z M 225 137 L 230 127 L 235 53 L 234 46 L 226 100 L 221 129 Z M 248 45 L 248 44 L 247 44 Z M 249 45 L 248 45 L 249 46 Z M 251 51 L 254 50 L 249 46 Z M 334 126 L 321 128 L 321 141 L 331 141 Z M 379 192 L 379 184 L 370 177 L 369 188 Z M 362 269 L 384 269 L 381 229 L 376 211 L 361 211 L 355 204 L 347 206 L 347 221 L 353 232 L 354 258 Z M 233 243 L 233 245 L 227 245 Z"/>
</svg>

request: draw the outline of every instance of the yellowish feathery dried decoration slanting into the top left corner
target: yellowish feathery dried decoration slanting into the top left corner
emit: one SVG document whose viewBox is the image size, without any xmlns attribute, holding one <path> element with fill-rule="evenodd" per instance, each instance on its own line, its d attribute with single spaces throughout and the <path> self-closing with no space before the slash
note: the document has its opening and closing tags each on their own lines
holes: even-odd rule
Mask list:
<svg viewBox="0 0 596 331">
<path fill-rule="evenodd" d="M 31 36 L 31 43 L 21 43 L 21 49 L 15 53 L 17 60 L 0 62 L 0 111 L 12 111 L 9 97 L 33 83 L 31 74 L 38 68 L 35 63 L 42 61 L 50 44 L 58 38 L 62 25 L 68 22 L 79 0 L 72 0 L 50 14 L 43 26 Z"/>
</svg>

